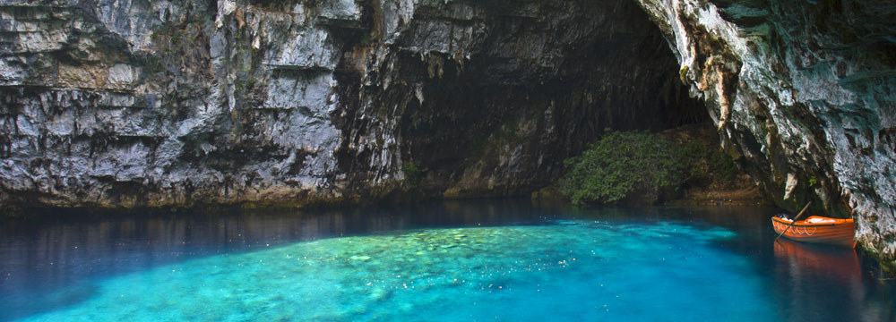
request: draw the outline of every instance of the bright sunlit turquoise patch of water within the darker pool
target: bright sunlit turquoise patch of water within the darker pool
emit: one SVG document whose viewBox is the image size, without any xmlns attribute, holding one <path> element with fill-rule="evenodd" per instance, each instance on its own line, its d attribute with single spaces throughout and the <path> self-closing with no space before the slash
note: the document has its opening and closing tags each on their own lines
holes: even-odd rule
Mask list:
<svg viewBox="0 0 896 322">
<path fill-rule="evenodd" d="M 576 220 L 330 238 L 85 281 L 23 319 L 776 320 L 750 261 L 718 246 L 734 237 Z"/>
</svg>

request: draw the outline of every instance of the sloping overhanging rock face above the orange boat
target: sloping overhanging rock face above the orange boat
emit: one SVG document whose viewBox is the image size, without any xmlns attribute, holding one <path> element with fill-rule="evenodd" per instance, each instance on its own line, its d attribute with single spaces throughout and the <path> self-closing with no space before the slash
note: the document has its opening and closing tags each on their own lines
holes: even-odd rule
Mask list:
<svg viewBox="0 0 896 322">
<path fill-rule="evenodd" d="M 639 0 L 770 199 L 857 220 L 896 267 L 896 7 Z"/>
</svg>

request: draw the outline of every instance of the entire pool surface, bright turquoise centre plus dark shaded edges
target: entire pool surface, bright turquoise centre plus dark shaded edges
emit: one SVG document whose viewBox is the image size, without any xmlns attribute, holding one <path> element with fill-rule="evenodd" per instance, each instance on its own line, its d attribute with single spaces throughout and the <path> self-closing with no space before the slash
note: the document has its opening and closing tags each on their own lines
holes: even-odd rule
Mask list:
<svg viewBox="0 0 896 322">
<path fill-rule="evenodd" d="M 872 262 L 772 242 L 769 216 L 501 200 L 13 221 L 0 319 L 896 320 Z"/>
</svg>

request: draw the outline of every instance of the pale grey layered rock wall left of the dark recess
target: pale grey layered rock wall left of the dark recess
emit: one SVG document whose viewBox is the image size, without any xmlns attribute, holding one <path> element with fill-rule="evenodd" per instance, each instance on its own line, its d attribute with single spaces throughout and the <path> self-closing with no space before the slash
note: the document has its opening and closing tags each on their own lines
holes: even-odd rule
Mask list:
<svg viewBox="0 0 896 322">
<path fill-rule="evenodd" d="M 301 17 L 141 0 L 4 1 L 0 14 L 4 204 L 189 206 L 326 191 L 338 130 L 322 71 L 335 60 Z M 293 40 L 260 55 L 262 38 Z"/>
</svg>

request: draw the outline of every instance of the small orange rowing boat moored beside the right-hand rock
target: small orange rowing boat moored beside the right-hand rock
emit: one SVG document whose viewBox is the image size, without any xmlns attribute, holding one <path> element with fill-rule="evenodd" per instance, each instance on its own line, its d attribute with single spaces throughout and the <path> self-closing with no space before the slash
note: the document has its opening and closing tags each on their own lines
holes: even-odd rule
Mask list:
<svg viewBox="0 0 896 322">
<path fill-rule="evenodd" d="M 775 233 L 784 233 L 782 237 L 797 242 L 818 242 L 844 246 L 855 246 L 856 223 L 852 219 L 835 219 L 823 216 L 810 216 L 806 220 L 793 223 L 790 219 L 771 217 L 771 225 Z"/>
</svg>

